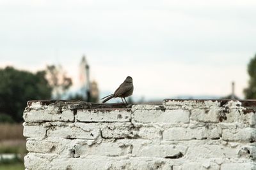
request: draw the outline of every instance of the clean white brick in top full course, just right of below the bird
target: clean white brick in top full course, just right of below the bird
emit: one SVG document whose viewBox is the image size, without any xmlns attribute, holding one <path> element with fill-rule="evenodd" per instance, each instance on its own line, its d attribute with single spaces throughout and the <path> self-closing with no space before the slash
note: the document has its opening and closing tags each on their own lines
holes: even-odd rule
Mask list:
<svg viewBox="0 0 256 170">
<path fill-rule="evenodd" d="M 134 121 L 142 123 L 188 123 L 188 110 L 136 110 L 134 111 Z"/>
</svg>

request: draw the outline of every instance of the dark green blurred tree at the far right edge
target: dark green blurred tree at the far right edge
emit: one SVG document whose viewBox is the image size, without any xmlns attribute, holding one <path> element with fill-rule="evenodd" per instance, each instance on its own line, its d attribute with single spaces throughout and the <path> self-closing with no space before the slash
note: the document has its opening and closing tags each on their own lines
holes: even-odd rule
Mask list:
<svg viewBox="0 0 256 170">
<path fill-rule="evenodd" d="M 256 55 L 250 60 L 247 71 L 250 80 L 248 87 L 244 89 L 244 96 L 246 99 L 256 99 Z"/>
</svg>

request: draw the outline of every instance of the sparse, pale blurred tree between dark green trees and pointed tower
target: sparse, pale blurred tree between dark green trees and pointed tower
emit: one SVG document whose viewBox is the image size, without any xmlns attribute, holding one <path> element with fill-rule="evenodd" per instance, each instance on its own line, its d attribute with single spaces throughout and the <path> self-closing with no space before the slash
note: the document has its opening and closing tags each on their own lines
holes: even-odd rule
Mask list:
<svg viewBox="0 0 256 170">
<path fill-rule="evenodd" d="M 72 85 L 71 78 L 68 78 L 61 66 L 47 66 L 46 79 L 52 87 L 52 97 L 60 99 Z"/>
</svg>

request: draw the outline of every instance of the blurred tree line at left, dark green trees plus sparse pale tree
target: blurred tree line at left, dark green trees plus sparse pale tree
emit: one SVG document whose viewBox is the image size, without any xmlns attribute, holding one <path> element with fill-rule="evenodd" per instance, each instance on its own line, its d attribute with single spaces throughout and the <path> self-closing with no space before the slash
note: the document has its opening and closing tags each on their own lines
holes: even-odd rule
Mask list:
<svg viewBox="0 0 256 170">
<path fill-rule="evenodd" d="M 36 73 L 0 68 L 0 122 L 22 122 L 27 101 L 58 99 L 71 85 L 71 78 L 56 66 Z"/>
</svg>

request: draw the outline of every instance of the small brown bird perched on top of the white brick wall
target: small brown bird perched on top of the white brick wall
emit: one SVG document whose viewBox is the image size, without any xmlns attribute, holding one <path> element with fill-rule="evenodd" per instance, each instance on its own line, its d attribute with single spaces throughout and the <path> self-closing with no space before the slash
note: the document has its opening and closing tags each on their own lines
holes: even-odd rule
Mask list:
<svg viewBox="0 0 256 170">
<path fill-rule="evenodd" d="M 127 76 L 127 78 L 124 80 L 124 82 L 115 90 L 114 94 L 110 94 L 109 96 L 103 97 L 104 101 L 102 103 L 105 103 L 106 101 L 112 99 L 113 97 L 121 97 L 122 102 L 123 98 L 125 100 L 125 97 L 131 96 L 133 92 L 133 84 L 132 84 L 132 78 L 131 76 Z M 105 99 L 106 98 L 106 99 Z M 127 101 L 125 100 L 125 103 L 127 104 Z"/>
</svg>

